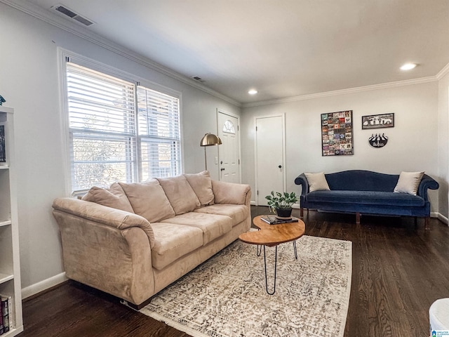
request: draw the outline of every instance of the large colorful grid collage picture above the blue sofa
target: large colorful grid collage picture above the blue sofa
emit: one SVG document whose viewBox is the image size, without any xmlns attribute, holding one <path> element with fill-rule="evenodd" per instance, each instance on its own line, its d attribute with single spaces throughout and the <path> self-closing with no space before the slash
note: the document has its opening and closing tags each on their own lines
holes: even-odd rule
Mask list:
<svg viewBox="0 0 449 337">
<path fill-rule="evenodd" d="M 321 114 L 321 155 L 354 154 L 352 110 Z"/>
</svg>

